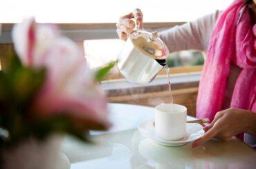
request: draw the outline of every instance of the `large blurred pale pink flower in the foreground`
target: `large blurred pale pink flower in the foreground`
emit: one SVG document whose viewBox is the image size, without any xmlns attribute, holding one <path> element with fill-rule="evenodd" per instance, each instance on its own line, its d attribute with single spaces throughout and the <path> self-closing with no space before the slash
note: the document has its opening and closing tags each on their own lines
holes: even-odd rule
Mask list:
<svg viewBox="0 0 256 169">
<path fill-rule="evenodd" d="M 15 25 L 12 39 L 25 66 L 47 69 L 33 112 L 43 117 L 65 113 L 89 128 L 109 126 L 107 99 L 73 41 L 62 37 L 55 26 L 37 24 L 33 18 Z"/>
</svg>

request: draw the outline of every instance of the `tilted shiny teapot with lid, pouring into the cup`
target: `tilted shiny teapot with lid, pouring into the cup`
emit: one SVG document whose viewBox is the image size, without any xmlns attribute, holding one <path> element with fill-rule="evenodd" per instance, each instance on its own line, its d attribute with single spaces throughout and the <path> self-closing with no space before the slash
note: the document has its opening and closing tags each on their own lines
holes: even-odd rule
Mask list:
<svg viewBox="0 0 256 169">
<path fill-rule="evenodd" d="M 158 32 L 139 30 L 135 24 L 134 32 L 129 34 L 117 59 L 122 76 L 131 83 L 149 83 L 166 66 L 169 50 L 158 37 Z"/>
</svg>

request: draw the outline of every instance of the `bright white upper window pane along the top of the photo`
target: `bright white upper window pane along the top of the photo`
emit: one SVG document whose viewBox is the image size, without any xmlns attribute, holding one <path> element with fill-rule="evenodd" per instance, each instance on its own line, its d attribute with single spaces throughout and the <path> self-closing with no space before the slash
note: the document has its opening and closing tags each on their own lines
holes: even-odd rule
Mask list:
<svg viewBox="0 0 256 169">
<path fill-rule="evenodd" d="M 233 0 L 1 0 L 0 23 L 19 22 L 35 16 L 49 23 L 115 23 L 140 8 L 145 22 L 190 21 Z"/>
</svg>

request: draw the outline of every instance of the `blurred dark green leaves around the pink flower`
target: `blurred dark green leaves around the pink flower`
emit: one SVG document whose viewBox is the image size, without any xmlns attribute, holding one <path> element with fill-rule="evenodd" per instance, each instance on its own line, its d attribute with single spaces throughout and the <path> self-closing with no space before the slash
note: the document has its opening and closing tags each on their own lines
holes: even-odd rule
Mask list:
<svg viewBox="0 0 256 169">
<path fill-rule="evenodd" d="M 102 79 L 114 65 L 112 62 L 98 70 L 95 78 Z M 43 140 L 56 132 L 90 142 L 88 128 L 75 125 L 68 113 L 55 112 L 51 117 L 37 117 L 37 112 L 33 112 L 32 104 L 45 81 L 46 68 L 23 66 L 17 55 L 11 58 L 4 72 L 0 71 L 0 128 L 8 131 L 7 138 L 0 136 L 0 151 L 24 139 Z"/>
</svg>

